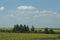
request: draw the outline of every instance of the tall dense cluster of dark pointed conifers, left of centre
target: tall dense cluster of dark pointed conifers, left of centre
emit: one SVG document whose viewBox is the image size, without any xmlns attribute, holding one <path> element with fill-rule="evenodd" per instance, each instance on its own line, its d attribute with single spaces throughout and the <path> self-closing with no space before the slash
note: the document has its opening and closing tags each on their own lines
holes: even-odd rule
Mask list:
<svg viewBox="0 0 60 40">
<path fill-rule="evenodd" d="M 28 27 L 28 25 L 26 26 L 25 24 L 24 25 L 22 25 L 22 24 L 20 24 L 20 25 L 14 25 L 14 28 L 13 28 L 13 32 L 29 32 L 29 27 Z"/>
</svg>

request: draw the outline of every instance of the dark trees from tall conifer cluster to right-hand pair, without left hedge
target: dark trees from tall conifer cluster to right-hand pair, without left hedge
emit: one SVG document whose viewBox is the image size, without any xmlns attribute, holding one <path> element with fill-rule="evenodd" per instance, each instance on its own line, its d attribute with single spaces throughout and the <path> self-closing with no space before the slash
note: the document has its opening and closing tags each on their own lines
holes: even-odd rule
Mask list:
<svg viewBox="0 0 60 40">
<path fill-rule="evenodd" d="M 46 33 L 46 34 L 54 34 L 54 31 L 53 29 L 48 29 L 48 28 L 45 28 L 44 29 L 44 32 L 42 32 L 41 30 L 35 30 L 34 26 L 32 26 L 31 28 L 29 28 L 28 25 L 14 25 L 14 28 L 13 28 L 13 32 L 18 32 L 18 33 Z"/>
</svg>

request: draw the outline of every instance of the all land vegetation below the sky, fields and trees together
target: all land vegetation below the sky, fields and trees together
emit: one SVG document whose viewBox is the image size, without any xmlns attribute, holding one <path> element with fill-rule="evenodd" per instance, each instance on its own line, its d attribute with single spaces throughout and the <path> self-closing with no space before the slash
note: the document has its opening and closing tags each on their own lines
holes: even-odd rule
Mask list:
<svg viewBox="0 0 60 40">
<path fill-rule="evenodd" d="M 41 38 L 60 38 L 58 28 L 35 28 L 33 25 L 14 25 L 14 28 L 0 28 L 0 40 L 24 40 Z"/>
</svg>

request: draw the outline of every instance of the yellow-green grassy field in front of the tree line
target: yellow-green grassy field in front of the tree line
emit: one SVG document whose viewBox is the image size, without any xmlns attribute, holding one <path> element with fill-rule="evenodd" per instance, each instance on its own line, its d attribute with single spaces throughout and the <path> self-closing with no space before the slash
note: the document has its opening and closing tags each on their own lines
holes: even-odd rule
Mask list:
<svg viewBox="0 0 60 40">
<path fill-rule="evenodd" d="M 56 38 L 60 34 L 0 33 L 0 40 L 23 40 L 32 38 Z"/>
</svg>

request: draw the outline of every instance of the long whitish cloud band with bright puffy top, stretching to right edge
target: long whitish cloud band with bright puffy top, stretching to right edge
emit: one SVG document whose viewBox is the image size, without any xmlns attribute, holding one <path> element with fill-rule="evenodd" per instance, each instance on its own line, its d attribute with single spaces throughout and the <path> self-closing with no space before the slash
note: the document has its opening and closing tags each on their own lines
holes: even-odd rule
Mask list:
<svg viewBox="0 0 60 40">
<path fill-rule="evenodd" d="M 14 11 L 11 11 L 9 12 L 9 15 L 12 16 L 22 16 L 22 17 L 25 17 L 25 16 L 29 16 L 29 17 L 57 17 L 58 14 L 57 12 L 54 12 L 54 11 L 48 11 L 48 10 L 38 10 L 37 8 L 33 7 L 33 6 L 19 6 L 17 7 L 17 9 L 19 10 L 14 10 Z M 28 9 L 28 10 L 27 10 Z"/>
</svg>

